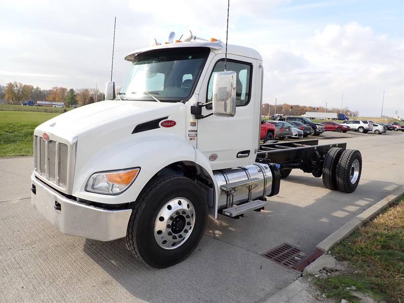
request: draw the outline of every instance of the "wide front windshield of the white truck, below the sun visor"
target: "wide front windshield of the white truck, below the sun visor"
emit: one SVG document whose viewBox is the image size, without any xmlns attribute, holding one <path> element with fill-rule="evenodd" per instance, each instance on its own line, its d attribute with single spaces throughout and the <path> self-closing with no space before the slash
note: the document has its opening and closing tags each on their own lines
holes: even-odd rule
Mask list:
<svg viewBox="0 0 404 303">
<path fill-rule="evenodd" d="M 156 49 L 135 57 L 120 91 L 123 99 L 187 100 L 205 62 L 208 47 Z"/>
</svg>

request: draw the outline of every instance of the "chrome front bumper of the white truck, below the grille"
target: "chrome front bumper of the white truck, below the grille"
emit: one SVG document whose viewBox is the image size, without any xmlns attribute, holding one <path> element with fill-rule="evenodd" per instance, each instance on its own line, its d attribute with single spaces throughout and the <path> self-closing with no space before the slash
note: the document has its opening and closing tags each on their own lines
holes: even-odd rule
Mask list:
<svg viewBox="0 0 404 303">
<path fill-rule="evenodd" d="M 31 204 L 62 233 L 111 241 L 126 236 L 132 210 L 105 210 L 66 198 L 31 176 Z M 35 193 L 34 193 L 35 191 Z"/>
</svg>

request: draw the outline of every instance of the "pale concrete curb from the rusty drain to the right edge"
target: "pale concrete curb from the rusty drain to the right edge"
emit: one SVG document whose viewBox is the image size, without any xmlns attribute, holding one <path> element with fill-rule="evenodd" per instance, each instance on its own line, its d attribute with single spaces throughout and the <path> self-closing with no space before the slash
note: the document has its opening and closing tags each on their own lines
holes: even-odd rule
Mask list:
<svg viewBox="0 0 404 303">
<path fill-rule="evenodd" d="M 323 241 L 318 243 L 316 249 L 319 249 L 322 252 L 327 252 L 336 243 L 338 243 L 342 239 L 349 236 L 352 232 L 354 232 L 358 228 L 358 226 L 369 221 L 375 215 L 377 215 L 386 207 L 388 207 L 391 203 L 396 201 L 403 194 L 404 194 L 404 186 L 396 188 L 391 194 L 386 196 L 384 199 L 381 199 L 375 205 L 365 210 L 362 214 L 359 214 L 355 218 L 349 220 L 340 228 L 338 228 L 336 231 L 334 231 L 332 234 L 330 234 L 327 238 L 325 238 Z"/>
</svg>

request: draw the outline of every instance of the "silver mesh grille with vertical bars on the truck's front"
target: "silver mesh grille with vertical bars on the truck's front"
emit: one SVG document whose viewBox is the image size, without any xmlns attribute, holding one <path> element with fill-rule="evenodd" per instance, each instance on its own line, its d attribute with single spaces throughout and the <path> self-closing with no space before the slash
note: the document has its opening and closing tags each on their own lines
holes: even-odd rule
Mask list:
<svg viewBox="0 0 404 303">
<path fill-rule="evenodd" d="M 56 185 L 67 188 L 68 145 L 53 140 L 45 141 L 39 136 L 35 136 L 34 142 L 35 171 Z"/>
</svg>

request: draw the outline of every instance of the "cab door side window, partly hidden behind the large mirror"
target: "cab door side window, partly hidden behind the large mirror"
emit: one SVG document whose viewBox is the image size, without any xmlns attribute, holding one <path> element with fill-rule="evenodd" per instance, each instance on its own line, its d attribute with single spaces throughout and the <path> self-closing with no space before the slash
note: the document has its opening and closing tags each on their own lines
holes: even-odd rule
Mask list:
<svg viewBox="0 0 404 303">
<path fill-rule="evenodd" d="M 247 105 L 250 98 L 250 75 L 251 75 L 251 65 L 248 63 L 233 62 L 227 60 L 226 69 L 228 71 L 236 72 L 236 105 L 244 106 Z M 213 72 L 209 79 L 208 93 L 206 102 L 212 101 L 212 91 L 213 91 L 213 77 L 217 72 L 224 71 L 224 60 L 220 60 L 216 63 L 213 68 Z"/>
</svg>

